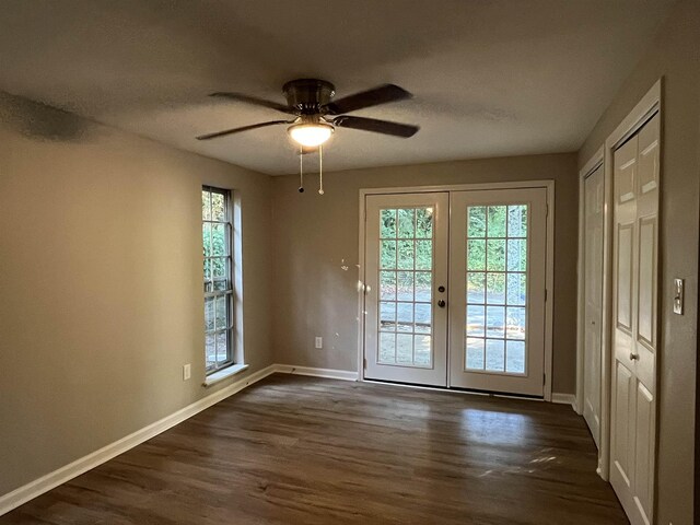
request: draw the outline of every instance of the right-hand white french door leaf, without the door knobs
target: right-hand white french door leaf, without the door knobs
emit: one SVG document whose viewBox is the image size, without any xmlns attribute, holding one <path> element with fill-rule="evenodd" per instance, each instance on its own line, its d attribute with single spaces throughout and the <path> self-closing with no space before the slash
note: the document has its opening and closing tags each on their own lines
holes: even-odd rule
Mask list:
<svg viewBox="0 0 700 525">
<path fill-rule="evenodd" d="M 541 396 L 547 190 L 451 198 L 450 384 Z"/>
</svg>

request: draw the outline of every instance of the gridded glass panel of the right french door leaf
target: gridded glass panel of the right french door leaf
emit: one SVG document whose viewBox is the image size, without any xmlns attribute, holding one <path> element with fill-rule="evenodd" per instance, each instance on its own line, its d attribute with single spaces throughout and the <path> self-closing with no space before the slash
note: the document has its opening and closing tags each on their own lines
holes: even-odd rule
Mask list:
<svg viewBox="0 0 700 525">
<path fill-rule="evenodd" d="M 528 220 L 529 205 L 467 207 L 467 372 L 527 372 Z"/>
</svg>

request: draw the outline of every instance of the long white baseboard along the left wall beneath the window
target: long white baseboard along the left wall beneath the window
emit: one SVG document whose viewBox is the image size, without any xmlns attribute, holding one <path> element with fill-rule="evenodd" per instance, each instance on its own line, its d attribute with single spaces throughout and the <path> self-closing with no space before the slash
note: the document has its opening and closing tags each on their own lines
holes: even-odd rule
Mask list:
<svg viewBox="0 0 700 525">
<path fill-rule="evenodd" d="M 238 381 L 230 384 L 225 388 L 214 392 L 213 394 L 188 405 L 185 408 L 177 410 L 170 416 L 161 419 L 160 421 L 155 421 L 154 423 L 149 424 L 140 430 L 137 430 L 132 434 L 129 434 L 125 438 L 121 438 L 114 443 L 110 443 L 106 446 L 103 446 L 98 451 L 95 451 L 86 456 L 81 457 L 80 459 L 74 460 L 63 467 L 60 467 L 58 470 L 54 470 L 52 472 L 47 474 L 34 481 L 31 481 L 12 492 L 8 492 L 7 494 L 0 495 L 0 516 L 10 512 L 12 509 L 16 509 L 23 503 L 36 498 L 37 495 L 43 494 L 44 492 L 48 492 L 55 487 L 58 487 L 66 481 L 69 481 L 88 470 L 95 468 L 102 465 L 105 462 L 108 462 L 113 457 L 118 456 L 127 452 L 130 448 L 143 443 L 144 441 L 154 438 L 155 435 L 165 432 L 167 429 L 175 427 L 178 423 L 182 423 L 186 419 L 191 418 L 198 412 L 215 405 L 217 402 L 225 399 L 229 396 L 242 390 L 246 386 L 249 386 L 258 381 L 267 377 L 270 374 L 277 372 L 277 365 L 271 364 L 258 372 L 254 372 L 250 375 L 240 378 Z"/>
</svg>

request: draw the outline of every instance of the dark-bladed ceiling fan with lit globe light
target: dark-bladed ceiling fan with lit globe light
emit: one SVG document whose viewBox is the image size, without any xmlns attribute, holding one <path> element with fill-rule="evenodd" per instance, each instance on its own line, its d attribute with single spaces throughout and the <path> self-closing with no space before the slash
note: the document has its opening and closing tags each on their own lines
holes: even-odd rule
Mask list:
<svg viewBox="0 0 700 525">
<path fill-rule="evenodd" d="M 293 115 L 293 118 L 225 129 L 214 133 L 201 135 L 197 139 L 215 139 L 250 129 L 287 124 L 290 125 L 288 132 L 295 142 L 302 148 L 313 149 L 328 140 L 336 127 L 374 131 L 375 133 L 390 135 L 404 139 L 412 137 L 420 129 L 418 126 L 408 124 L 345 115 L 365 107 L 378 106 L 380 104 L 402 101 L 413 96 L 398 85 L 383 84 L 334 101 L 336 88 L 330 82 L 317 79 L 298 79 L 287 82 L 282 86 L 282 92 L 287 98 L 287 105 L 242 93 L 212 93 L 209 96 L 277 109 L 278 112 Z"/>
</svg>

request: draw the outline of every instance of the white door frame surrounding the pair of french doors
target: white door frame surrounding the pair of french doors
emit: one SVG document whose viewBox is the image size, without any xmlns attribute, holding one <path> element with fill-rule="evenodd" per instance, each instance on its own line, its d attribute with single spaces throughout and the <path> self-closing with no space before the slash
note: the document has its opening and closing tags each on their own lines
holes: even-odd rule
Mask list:
<svg viewBox="0 0 700 525">
<path fill-rule="evenodd" d="M 553 180 L 524 180 L 506 183 L 476 183 L 476 184 L 453 184 L 442 186 L 401 186 L 387 188 L 362 188 L 360 189 L 360 235 L 359 235 L 359 258 L 358 258 L 358 381 L 364 380 L 364 243 L 365 243 L 365 197 L 368 195 L 382 194 L 419 194 L 432 191 L 474 191 L 483 189 L 520 189 L 520 188 L 545 188 L 547 189 L 547 270 L 546 289 L 547 304 L 545 305 L 545 388 L 544 400 L 551 401 L 551 363 L 552 363 L 552 331 L 553 331 L 553 290 L 555 290 L 555 182 Z M 450 363 L 447 363 L 450 366 Z M 450 371 L 447 370 L 447 377 Z M 447 383 L 450 387 L 450 383 Z"/>
</svg>

